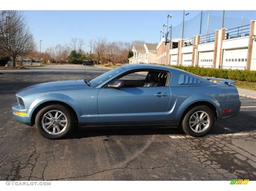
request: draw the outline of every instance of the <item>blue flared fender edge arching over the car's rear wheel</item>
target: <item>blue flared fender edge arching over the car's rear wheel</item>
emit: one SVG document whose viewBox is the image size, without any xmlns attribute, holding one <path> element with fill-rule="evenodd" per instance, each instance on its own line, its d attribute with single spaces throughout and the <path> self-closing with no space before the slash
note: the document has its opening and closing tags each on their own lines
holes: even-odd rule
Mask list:
<svg viewBox="0 0 256 191">
<path fill-rule="evenodd" d="M 181 116 L 183 115 L 184 111 L 190 107 L 190 105 L 196 103 L 196 102 L 208 102 L 211 103 L 217 111 L 217 119 L 221 116 L 221 108 L 220 108 L 220 103 L 210 95 L 206 94 L 197 94 L 197 95 L 192 95 L 186 98 L 186 100 L 183 101 L 183 103 L 180 104 L 178 111 L 176 113 L 176 119 L 180 121 Z"/>
</svg>

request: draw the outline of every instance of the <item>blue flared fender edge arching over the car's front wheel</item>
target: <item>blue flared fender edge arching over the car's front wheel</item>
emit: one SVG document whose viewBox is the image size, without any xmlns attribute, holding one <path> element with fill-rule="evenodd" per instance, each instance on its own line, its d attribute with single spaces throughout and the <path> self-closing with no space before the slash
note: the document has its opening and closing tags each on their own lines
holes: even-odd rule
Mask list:
<svg viewBox="0 0 256 191">
<path fill-rule="evenodd" d="M 78 104 L 75 100 L 73 100 L 71 97 L 69 97 L 65 94 L 54 93 L 54 94 L 46 94 L 46 95 L 36 98 L 36 100 L 34 100 L 29 107 L 28 116 L 31 117 L 33 114 L 33 111 L 35 111 L 35 109 L 39 105 L 41 105 L 45 102 L 49 102 L 49 101 L 59 101 L 59 102 L 68 104 L 76 112 L 77 116 L 82 115 L 82 111 L 78 107 Z"/>
</svg>

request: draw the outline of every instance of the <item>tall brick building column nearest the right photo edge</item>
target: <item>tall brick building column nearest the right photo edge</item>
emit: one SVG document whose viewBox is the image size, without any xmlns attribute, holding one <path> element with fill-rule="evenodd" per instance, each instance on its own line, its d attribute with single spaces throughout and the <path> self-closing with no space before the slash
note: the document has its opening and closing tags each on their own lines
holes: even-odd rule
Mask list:
<svg viewBox="0 0 256 191">
<path fill-rule="evenodd" d="M 246 69 L 247 70 L 256 70 L 255 62 L 256 62 L 256 27 L 255 27 L 255 20 L 251 20 L 250 22 L 250 33 L 249 33 L 249 43 L 248 43 L 248 53 L 247 53 L 247 63 Z"/>
</svg>

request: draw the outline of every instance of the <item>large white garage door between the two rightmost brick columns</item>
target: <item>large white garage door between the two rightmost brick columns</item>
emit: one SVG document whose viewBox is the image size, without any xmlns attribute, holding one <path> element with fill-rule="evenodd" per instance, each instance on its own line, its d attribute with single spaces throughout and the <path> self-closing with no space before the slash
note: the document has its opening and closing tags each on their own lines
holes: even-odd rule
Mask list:
<svg viewBox="0 0 256 191">
<path fill-rule="evenodd" d="M 248 49 L 224 50 L 222 68 L 245 69 Z"/>
</svg>

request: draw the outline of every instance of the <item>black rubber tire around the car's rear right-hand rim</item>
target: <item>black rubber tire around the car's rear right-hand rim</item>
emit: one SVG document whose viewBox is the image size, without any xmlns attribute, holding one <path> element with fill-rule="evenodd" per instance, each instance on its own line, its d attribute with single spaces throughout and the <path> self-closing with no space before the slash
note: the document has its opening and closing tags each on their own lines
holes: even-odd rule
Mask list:
<svg viewBox="0 0 256 191">
<path fill-rule="evenodd" d="M 190 127 L 190 119 L 191 120 L 194 119 L 194 118 L 191 118 L 192 115 L 199 111 L 206 112 L 210 119 L 210 123 L 208 122 L 208 124 L 209 124 L 208 127 L 203 132 L 195 132 L 192 130 L 193 128 Z M 192 108 L 191 110 L 189 110 L 186 113 L 186 115 L 183 118 L 182 129 L 187 135 L 190 135 L 193 137 L 202 137 L 202 136 L 206 135 L 213 128 L 214 122 L 215 122 L 214 112 L 210 108 L 208 108 L 206 105 L 198 105 L 197 107 Z M 197 124 L 196 124 L 196 126 L 197 126 Z M 203 127 L 204 126 L 201 125 L 202 129 L 203 129 Z"/>
</svg>

